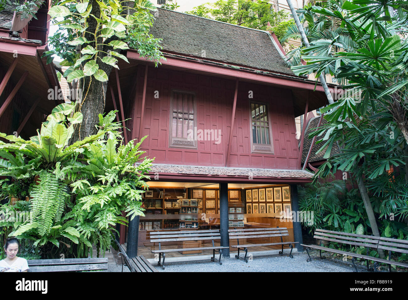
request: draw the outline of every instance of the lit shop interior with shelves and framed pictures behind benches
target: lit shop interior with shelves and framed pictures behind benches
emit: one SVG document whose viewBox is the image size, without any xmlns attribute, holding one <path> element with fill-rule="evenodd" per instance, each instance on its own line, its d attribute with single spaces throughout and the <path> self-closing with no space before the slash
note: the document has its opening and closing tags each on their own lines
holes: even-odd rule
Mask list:
<svg viewBox="0 0 408 300">
<path fill-rule="evenodd" d="M 220 229 L 220 193 L 217 183 L 148 182 L 140 217 L 137 255 L 154 258 L 151 250 L 159 249 L 150 242 L 152 231 L 184 231 Z M 230 229 L 286 227 L 293 240 L 289 185 L 228 184 L 228 225 Z M 127 236 L 127 232 L 125 234 Z M 239 239 L 244 243 L 275 243 L 279 237 Z M 285 241 L 285 240 L 284 240 Z M 164 242 L 161 249 L 209 247 L 212 241 Z M 220 240 L 215 240 L 215 246 Z M 237 240 L 230 239 L 230 246 Z M 280 246 L 259 246 L 251 251 L 270 251 Z M 230 247 L 230 251 L 236 248 Z M 171 252 L 167 257 L 213 254 L 212 250 Z"/>
</svg>

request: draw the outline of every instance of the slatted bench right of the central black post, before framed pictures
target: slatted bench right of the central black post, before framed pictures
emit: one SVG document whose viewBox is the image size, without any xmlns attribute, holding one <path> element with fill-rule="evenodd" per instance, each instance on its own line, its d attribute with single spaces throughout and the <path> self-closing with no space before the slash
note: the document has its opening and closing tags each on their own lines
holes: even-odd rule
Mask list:
<svg viewBox="0 0 408 300">
<path fill-rule="evenodd" d="M 297 244 L 299 242 L 284 242 L 282 237 L 289 236 L 288 229 L 286 227 L 269 227 L 269 228 L 250 228 L 250 229 L 228 229 L 228 234 L 230 239 L 237 239 L 237 245 L 232 245 L 231 247 L 238 249 L 238 255 L 235 255 L 236 259 L 242 258 L 245 262 L 248 262 L 246 259 L 246 255 L 248 254 L 249 247 L 259 247 L 259 246 L 275 246 L 281 245 L 282 251 L 279 251 L 279 255 L 283 255 L 283 247 L 287 245 L 290 248 L 289 257 L 293 258 L 292 250 L 293 244 Z M 280 238 L 280 242 L 278 243 L 252 243 L 246 245 L 239 245 L 239 238 L 271 238 L 277 237 Z M 245 251 L 245 256 L 239 256 L 239 250 L 243 249 Z"/>
</svg>

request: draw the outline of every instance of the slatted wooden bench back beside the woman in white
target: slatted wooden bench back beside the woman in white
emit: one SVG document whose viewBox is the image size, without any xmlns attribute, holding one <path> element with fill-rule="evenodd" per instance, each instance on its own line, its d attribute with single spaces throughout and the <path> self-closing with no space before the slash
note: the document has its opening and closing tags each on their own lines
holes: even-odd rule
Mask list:
<svg viewBox="0 0 408 300">
<path fill-rule="evenodd" d="M 29 272 L 106 271 L 108 258 L 65 258 L 27 260 Z"/>
</svg>

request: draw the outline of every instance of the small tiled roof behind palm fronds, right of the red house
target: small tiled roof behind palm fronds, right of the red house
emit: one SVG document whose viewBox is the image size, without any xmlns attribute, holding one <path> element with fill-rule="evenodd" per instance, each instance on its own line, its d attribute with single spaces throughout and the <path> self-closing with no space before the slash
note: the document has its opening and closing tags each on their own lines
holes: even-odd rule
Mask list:
<svg viewBox="0 0 408 300">
<path fill-rule="evenodd" d="M 317 126 L 319 125 L 319 119 L 320 119 L 320 116 L 317 116 L 317 117 L 315 117 L 313 119 L 310 119 L 309 124 L 308 124 L 308 126 L 306 128 L 305 137 L 304 137 L 304 141 L 303 141 L 302 163 L 304 163 L 306 161 L 306 156 L 307 156 L 307 154 L 309 152 L 310 145 L 312 144 L 312 140 L 313 140 L 313 137 L 310 138 L 310 139 L 308 137 L 312 132 L 314 132 L 316 130 L 315 128 L 317 128 Z M 326 125 L 326 124 L 327 124 L 326 119 L 322 118 L 322 122 L 320 123 L 320 126 L 323 126 L 323 125 Z M 324 154 L 326 153 L 326 150 L 327 150 L 328 146 L 326 146 L 326 148 L 324 148 L 324 150 L 322 150 L 321 152 L 316 154 L 316 152 L 324 145 L 324 141 L 322 141 L 322 142 L 320 142 L 318 144 L 316 144 L 316 142 L 319 139 L 322 139 L 322 137 L 324 137 L 325 132 L 322 135 L 316 137 L 315 143 L 313 144 L 312 151 L 310 152 L 310 157 L 308 159 L 308 163 L 312 163 L 313 161 L 324 160 L 323 157 L 324 157 Z M 337 147 L 337 144 L 334 143 L 333 147 L 332 147 L 332 150 L 330 152 L 330 155 L 339 154 L 339 153 L 340 153 L 340 150 Z"/>
</svg>

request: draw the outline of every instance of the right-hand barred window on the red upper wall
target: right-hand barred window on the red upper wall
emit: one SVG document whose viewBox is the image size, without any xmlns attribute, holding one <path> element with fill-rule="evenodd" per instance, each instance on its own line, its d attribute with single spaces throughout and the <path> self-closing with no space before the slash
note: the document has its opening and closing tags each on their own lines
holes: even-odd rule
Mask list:
<svg viewBox="0 0 408 300">
<path fill-rule="evenodd" d="M 251 102 L 251 134 L 252 152 L 273 152 L 268 106 L 264 103 Z"/>
</svg>

